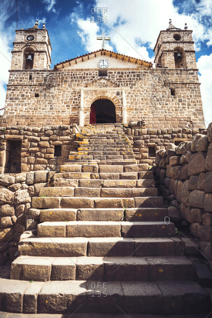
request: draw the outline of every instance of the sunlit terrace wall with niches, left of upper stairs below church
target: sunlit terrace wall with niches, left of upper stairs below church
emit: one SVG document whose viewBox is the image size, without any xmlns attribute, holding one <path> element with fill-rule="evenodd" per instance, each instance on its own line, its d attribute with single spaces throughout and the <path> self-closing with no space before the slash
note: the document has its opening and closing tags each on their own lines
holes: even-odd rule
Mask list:
<svg viewBox="0 0 212 318">
<path fill-rule="evenodd" d="M 20 172 L 55 170 L 57 165 L 67 161 L 69 152 L 75 149 L 74 140 L 76 140 L 77 132 L 77 125 L 0 127 L 0 172 L 8 172 L 9 143 L 11 142 L 21 144 Z M 61 156 L 56 156 L 56 146 L 61 147 Z"/>
</svg>

